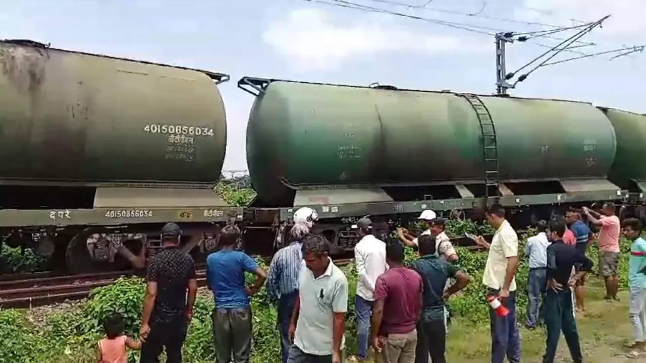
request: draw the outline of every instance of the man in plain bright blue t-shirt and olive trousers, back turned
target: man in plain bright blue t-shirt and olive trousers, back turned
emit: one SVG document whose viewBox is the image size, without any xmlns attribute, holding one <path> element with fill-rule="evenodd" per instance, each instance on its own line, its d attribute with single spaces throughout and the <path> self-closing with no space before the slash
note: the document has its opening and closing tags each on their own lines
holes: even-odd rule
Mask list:
<svg viewBox="0 0 646 363">
<path fill-rule="evenodd" d="M 206 277 L 213 291 L 213 338 L 216 362 L 249 362 L 251 352 L 251 309 L 249 298 L 264 284 L 267 274 L 242 251 L 235 251 L 240 229 L 227 225 L 220 231 L 222 249 L 206 259 Z M 256 281 L 245 286 L 244 273 L 255 273 Z"/>
</svg>

